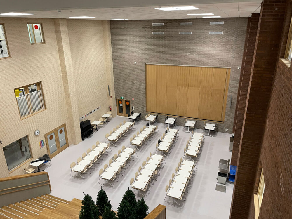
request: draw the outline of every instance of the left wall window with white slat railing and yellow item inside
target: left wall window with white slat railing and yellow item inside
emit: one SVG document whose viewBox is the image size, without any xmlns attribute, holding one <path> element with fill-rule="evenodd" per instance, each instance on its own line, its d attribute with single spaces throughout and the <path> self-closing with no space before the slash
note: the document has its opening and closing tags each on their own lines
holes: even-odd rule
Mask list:
<svg viewBox="0 0 292 219">
<path fill-rule="evenodd" d="M 21 119 L 46 109 L 41 82 L 16 88 L 14 93 Z"/>
</svg>

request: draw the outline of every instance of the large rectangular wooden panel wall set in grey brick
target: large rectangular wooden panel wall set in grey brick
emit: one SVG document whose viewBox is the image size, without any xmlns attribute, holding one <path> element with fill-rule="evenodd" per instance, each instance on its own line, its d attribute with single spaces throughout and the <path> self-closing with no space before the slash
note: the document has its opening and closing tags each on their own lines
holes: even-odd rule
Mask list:
<svg viewBox="0 0 292 219">
<path fill-rule="evenodd" d="M 224 121 L 229 68 L 146 64 L 146 111 Z"/>
</svg>

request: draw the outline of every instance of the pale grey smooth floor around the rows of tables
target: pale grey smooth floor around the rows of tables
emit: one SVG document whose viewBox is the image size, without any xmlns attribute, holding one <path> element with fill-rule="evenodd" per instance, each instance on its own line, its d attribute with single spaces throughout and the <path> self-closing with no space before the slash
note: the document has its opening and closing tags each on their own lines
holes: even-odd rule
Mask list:
<svg viewBox="0 0 292 219">
<path fill-rule="evenodd" d="M 98 140 L 99 142 L 105 142 L 105 134 L 109 133 L 114 127 L 116 127 L 123 120 L 127 120 L 126 117 L 117 116 L 113 121 L 105 126 L 105 128 L 99 129 L 94 133 L 91 138 L 86 138 L 78 145 L 70 145 L 67 149 L 60 154 L 52 158 L 51 166 L 46 169 L 49 173 L 52 195 L 71 201 L 73 198 L 82 199 L 83 192 L 91 195 L 96 200 L 96 196 L 101 186 L 98 183 L 99 175 L 98 171 L 108 164 L 109 159 L 117 153 L 123 145 L 129 147 L 130 137 L 133 136 L 140 128 L 145 125 L 145 121 L 139 121 L 136 124 L 136 129 L 130 131 L 130 135 L 125 138 L 121 143 L 117 144 L 117 147 L 112 147 L 112 152 L 109 152 L 109 156 L 105 156 L 105 159 L 100 162 L 100 165 L 95 170 L 91 171 L 90 175 L 86 175 L 86 180 L 80 180 L 70 177 L 70 164 L 77 158 L 81 157 L 86 149 L 91 148 L 93 144 Z M 128 167 L 124 176 L 119 176 L 119 182 L 114 183 L 114 188 L 105 187 L 103 189 L 107 192 L 113 210 L 117 210 L 119 203 L 124 195 L 124 192 L 130 187 L 130 179 L 135 177 L 135 172 L 138 171 L 138 167 L 142 166 L 142 162 L 146 160 L 149 153 L 155 153 L 156 143 L 166 127 L 164 124 L 158 123 L 159 133 L 154 135 L 154 138 L 145 145 L 142 152 L 137 150 L 138 158 L 131 162 L 131 166 Z M 231 134 L 217 133 L 214 137 L 206 136 L 201 157 L 197 163 L 197 171 L 194 176 L 194 181 L 191 182 L 191 188 L 186 195 L 186 201 L 184 201 L 184 207 L 179 208 L 167 204 L 164 202 L 165 187 L 168 184 L 168 180 L 171 178 L 171 174 L 175 172 L 175 167 L 180 161 L 180 157 L 183 157 L 183 148 L 185 147 L 187 140 L 191 136 L 191 133 L 186 133 L 186 129 L 183 131 L 182 126 L 176 126 L 179 129 L 179 137 L 173 148 L 170 157 L 165 158 L 166 164 L 161 169 L 161 174 L 158 176 L 157 181 L 154 181 L 154 185 L 150 187 L 150 193 L 147 193 L 145 199 L 149 206 L 149 211 L 152 211 L 158 204 L 166 205 L 167 219 L 172 218 L 198 218 L 198 219 L 227 219 L 229 218 L 233 184 L 226 183 L 226 193 L 215 191 L 217 183 L 217 172 L 219 159 L 230 159 L 231 152 L 229 152 L 229 138 Z M 202 132 L 200 129 L 196 129 L 197 132 Z M 159 154 L 159 152 L 157 152 Z M 74 174 L 74 173 L 73 173 Z M 102 182 L 102 180 L 100 180 Z M 133 190 L 137 194 L 136 190 Z M 137 197 L 138 200 L 138 197 Z M 168 199 L 171 202 L 171 199 Z"/>
</svg>

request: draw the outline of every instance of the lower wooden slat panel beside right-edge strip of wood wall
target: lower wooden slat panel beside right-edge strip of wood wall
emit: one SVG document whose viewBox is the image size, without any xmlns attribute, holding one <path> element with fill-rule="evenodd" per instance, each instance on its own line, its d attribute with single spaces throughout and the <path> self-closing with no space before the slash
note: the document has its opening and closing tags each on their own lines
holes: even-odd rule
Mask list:
<svg viewBox="0 0 292 219">
<path fill-rule="evenodd" d="M 212 89 L 210 120 L 221 121 L 224 90 Z"/>
</svg>

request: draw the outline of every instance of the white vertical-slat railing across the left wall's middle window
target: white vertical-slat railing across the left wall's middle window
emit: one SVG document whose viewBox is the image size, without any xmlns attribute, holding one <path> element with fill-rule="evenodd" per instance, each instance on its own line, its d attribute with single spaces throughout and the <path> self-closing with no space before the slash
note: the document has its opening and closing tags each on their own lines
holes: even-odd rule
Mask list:
<svg viewBox="0 0 292 219">
<path fill-rule="evenodd" d="M 25 118 L 45 109 L 43 93 L 41 90 L 34 91 L 16 98 L 20 118 Z"/>
</svg>

